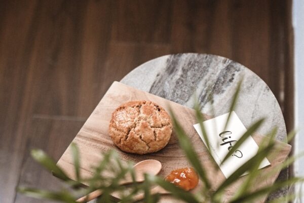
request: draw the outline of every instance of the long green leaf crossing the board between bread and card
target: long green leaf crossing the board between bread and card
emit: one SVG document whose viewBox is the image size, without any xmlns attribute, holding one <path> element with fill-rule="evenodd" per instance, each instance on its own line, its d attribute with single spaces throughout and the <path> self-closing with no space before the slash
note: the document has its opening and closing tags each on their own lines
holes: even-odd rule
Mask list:
<svg viewBox="0 0 304 203">
<path fill-rule="evenodd" d="M 203 183 L 205 184 L 206 188 L 210 188 L 209 180 L 206 176 L 206 172 L 201 164 L 198 154 L 195 152 L 190 139 L 186 136 L 185 131 L 182 129 L 176 117 L 174 116 L 173 112 L 170 109 L 171 117 L 173 120 L 173 124 L 175 127 L 176 136 L 178 137 L 178 142 L 185 153 L 188 161 L 192 164 L 196 172 L 199 174 L 200 178 L 202 179 Z"/>
</svg>

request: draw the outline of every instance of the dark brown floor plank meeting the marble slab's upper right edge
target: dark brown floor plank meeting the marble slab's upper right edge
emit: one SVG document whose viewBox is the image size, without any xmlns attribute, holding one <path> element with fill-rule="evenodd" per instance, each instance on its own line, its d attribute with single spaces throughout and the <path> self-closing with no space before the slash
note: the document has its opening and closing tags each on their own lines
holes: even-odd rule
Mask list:
<svg viewBox="0 0 304 203">
<path fill-rule="evenodd" d="M 233 59 L 255 72 L 272 89 L 269 70 L 269 1 L 234 1 L 232 4 Z"/>
</svg>

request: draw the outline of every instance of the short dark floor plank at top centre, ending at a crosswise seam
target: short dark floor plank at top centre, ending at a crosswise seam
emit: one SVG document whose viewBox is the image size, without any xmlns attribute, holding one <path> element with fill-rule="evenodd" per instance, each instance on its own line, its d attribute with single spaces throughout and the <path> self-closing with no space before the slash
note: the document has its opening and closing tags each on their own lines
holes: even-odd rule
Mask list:
<svg viewBox="0 0 304 203">
<path fill-rule="evenodd" d="M 170 0 L 112 1 L 111 35 L 115 41 L 168 43 L 171 27 Z"/>
</svg>

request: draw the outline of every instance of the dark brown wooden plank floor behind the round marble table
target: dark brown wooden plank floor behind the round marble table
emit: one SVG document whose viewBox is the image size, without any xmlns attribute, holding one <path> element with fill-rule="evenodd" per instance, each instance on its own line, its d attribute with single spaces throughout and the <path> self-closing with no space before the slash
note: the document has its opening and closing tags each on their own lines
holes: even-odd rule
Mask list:
<svg viewBox="0 0 304 203">
<path fill-rule="evenodd" d="M 236 60 L 272 89 L 293 124 L 291 1 L 0 1 L 0 202 L 57 189 L 29 150 L 55 159 L 109 85 L 180 52 Z"/>
</svg>

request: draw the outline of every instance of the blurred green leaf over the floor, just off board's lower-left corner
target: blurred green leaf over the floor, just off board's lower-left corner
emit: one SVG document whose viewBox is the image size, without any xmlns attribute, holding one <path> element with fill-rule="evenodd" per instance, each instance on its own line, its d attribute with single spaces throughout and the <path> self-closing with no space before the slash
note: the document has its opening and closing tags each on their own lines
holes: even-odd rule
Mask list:
<svg viewBox="0 0 304 203">
<path fill-rule="evenodd" d="M 56 165 L 56 162 L 49 157 L 43 150 L 33 149 L 31 150 L 31 156 L 41 165 L 43 165 L 47 170 L 51 171 L 58 178 L 68 181 L 70 180 L 60 167 Z"/>
</svg>

